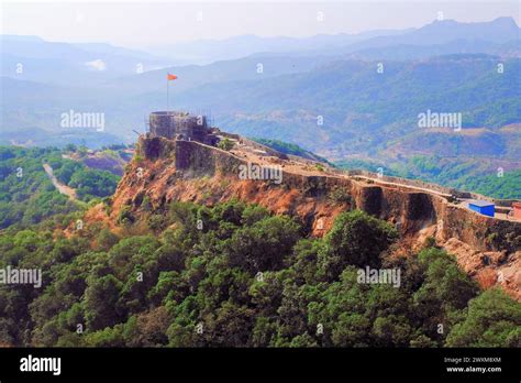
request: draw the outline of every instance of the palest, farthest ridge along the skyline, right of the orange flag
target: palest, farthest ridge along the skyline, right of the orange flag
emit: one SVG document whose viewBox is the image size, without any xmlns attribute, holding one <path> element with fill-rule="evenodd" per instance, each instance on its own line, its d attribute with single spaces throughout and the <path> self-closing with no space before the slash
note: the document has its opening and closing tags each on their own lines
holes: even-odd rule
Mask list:
<svg viewBox="0 0 521 383">
<path fill-rule="evenodd" d="M 201 40 L 149 50 L 177 61 L 208 64 L 217 59 L 232 59 L 258 53 L 291 53 L 303 55 L 343 56 L 368 48 L 389 46 L 432 46 L 451 44 L 450 53 L 476 53 L 491 45 L 519 40 L 519 28 L 511 18 L 490 22 L 461 23 L 454 20 L 434 21 L 420 29 L 380 30 L 359 34 L 315 35 L 311 37 L 259 37 L 243 35 L 221 41 Z M 459 42 L 459 46 L 455 44 Z M 468 44 L 473 44 L 469 47 Z M 467 45 L 465 47 L 465 45 Z M 470 50 L 470 51 L 462 51 Z M 476 50 L 476 51 L 475 51 Z M 448 53 L 448 52 L 446 52 Z"/>
</svg>

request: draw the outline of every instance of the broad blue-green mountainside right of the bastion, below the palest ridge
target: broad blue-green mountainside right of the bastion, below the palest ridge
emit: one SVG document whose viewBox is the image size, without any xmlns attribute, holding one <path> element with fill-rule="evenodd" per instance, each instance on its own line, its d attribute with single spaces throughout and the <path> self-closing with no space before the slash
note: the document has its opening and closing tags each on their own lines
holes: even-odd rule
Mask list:
<svg viewBox="0 0 521 383">
<path fill-rule="evenodd" d="M 246 136 L 293 142 L 329 157 L 377 154 L 409 134 L 428 134 L 418 128 L 418 114 L 426 110 L 461 112 L 463 128 L 497 133 L 519 122 L 521 61 L 505 61 L 502 73 L 498 61 L 442 56 L 384 63 L 383 73 L 378 62 L 339 61 L 306 74 L 208 84 L 180 101 L 211 108 L 228 131 Z"/>
</svg>

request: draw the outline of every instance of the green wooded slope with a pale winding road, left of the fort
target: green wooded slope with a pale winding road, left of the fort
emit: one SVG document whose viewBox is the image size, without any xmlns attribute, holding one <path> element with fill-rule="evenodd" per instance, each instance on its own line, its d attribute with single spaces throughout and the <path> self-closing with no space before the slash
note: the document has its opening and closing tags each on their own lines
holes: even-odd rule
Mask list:
<svg viewBox="0 0 521 383">
<path fill-rule="evenodd" d="M 59 194 L 45 174 L 49 164 L 56 178 L 89 203 L 114 193 L 119 177 L 62 157 L 56 147 L 0 146 L 0 229 L 29 227 L 54 215 L 66 215 L 85 205 Z"/>
</svg>

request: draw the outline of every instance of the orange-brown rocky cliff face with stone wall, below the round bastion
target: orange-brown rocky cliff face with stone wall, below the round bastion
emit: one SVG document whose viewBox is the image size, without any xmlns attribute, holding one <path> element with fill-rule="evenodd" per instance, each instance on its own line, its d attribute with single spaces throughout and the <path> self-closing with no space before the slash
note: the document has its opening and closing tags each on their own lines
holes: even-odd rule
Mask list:
<svg viewBox="0 0 521 383">
<path fill-rule="evenodd" d="M 159 209 L 173 200 L 214 205 L 236 198 L 298 217 L 311 236 L 322 236 L 340 212 L 356 208 L 395 223 L 409 250 L 435 238 L 481 285 L 501 284 L 521 298 L 520 222 L 477 215 L 429 190 L 328 171 L 310 175 L 279 158 L 276 164 L 282 169 L 281 183 L 242 179 L 241 166 L 247 161 L 240 153 L 193 141 L 142 138 L 113 197 L 111 221 L 125 206 L 140 215 L 145 197 Z"/>
</svg>

